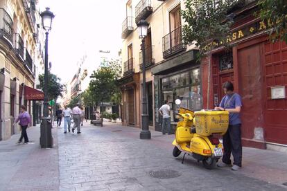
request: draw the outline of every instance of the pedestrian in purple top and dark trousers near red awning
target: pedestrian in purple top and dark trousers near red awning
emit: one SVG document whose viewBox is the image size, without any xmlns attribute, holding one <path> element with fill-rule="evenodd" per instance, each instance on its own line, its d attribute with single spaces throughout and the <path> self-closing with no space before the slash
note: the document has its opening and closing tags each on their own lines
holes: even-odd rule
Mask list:
<svg viewBox="0 0 287 191">
<path fill-rule="evenodd" d="M 15 125 L 17 122 L 19 122 L 19 125 L 21 126 L 21 136 L 17 143 L 21 143 L 24 138 L 24 143 L 28 143 L 28 136 L 26 129 L 28 128 L 28 125 L 31 125 L 31 116 L 26 111 L 26 107 L 24 105 L 21 105 L 21 113 L 19 114 L 18 118 L 14 122 L 13 125 Z"/>
</svg>

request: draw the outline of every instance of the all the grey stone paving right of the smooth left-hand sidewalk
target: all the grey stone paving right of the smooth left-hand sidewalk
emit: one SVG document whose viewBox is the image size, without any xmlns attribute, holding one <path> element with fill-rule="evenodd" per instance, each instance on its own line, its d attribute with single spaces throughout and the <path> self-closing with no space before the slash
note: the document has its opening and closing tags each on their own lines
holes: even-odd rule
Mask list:
<svg viewBox="0 0 287 191">
<path fill-rule="evenodd" d="M 243 169 L 205 170 L 190 156 L 173 158 L 173 135 L 152 131 L 140 140 L 139 129 L 105 122 L 87 125 L 82 134 L 58 131 L 60 190 L 286 190 L 286 154 L 244 149 Z M 263 158 L 263 157 L 266 158 Z M 276 157 L 276 158 L 275 158 Z M 245 160 L 246 158 L 246 160 Z M 150 176 L 166 170 L 175 176 Z M 171 171 L 175 172 L 171 172 Z"/>
</svg>

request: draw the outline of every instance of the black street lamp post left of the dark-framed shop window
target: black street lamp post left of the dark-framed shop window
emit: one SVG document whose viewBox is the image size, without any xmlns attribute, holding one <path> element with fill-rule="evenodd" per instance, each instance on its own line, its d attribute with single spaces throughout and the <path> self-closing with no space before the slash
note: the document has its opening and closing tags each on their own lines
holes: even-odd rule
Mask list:
<svg viewBox="0 0 287 191">
<path fill-rule="evenodd" d="M 141 139 L 150 139 L 150 131 L 148 129 L 148 105 L 146 102 L 146 57 L 145 57 L 145 38 L 148 34 L 148 22 L 145 20 L 139 21 L 137 27 L 139 30 L 139 38 L 141 39 L 141 52 L 142 52 L 142 66 L 143 66 L 143 93 L 142 93 L 142 109 L 141 109 L 141 133 L 139 138 Z"/>
</svg>

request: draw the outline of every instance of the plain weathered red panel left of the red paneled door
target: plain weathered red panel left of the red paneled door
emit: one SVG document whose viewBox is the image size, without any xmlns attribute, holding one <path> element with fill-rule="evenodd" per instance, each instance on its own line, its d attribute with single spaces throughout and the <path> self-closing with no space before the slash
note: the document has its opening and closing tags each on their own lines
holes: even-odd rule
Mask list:
<svg viewBox="0 0 287 191">
<path fill-rule="evenodd" d="M 242 98 L 242 136 L 254 138 L 254 128 L 263 128 L 262 116 L 261 46 L 259 44 L 238 50 L 238 89 Z M 256 134 L 263 140 L 263 134 Z"/>
</svg>

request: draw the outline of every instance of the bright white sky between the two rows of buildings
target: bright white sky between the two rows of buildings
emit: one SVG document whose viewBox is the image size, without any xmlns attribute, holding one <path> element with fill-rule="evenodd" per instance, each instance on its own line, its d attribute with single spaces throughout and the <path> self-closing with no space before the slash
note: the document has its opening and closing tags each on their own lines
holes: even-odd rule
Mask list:
<svg viewBox="0 0 287 191">
<path fill-rule="evenodd" d="M 125 19 L 124 0 L 40 0 L 40 10 L 54 13 L 49 33 L 51 72 L 66 83 L 77 70 L 83 55 L 89 69 L 100 62 L 100 50 L 117 55 L 121 49 L 121 24 Z"/>
</svg>

